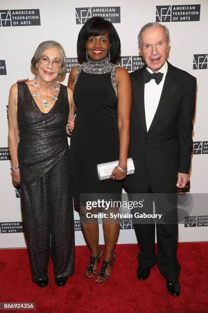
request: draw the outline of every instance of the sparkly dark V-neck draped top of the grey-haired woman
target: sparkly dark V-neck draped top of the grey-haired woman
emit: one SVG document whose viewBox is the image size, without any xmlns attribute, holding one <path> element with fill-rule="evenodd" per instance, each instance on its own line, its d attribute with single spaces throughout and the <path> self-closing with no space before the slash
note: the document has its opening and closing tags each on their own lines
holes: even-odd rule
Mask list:
<svg viewBox="0 0 208 313">
<path fill-rule="evenodd" d="M 25 82 L 18 82 L 18 161 L 23 180 L 32 184 L 68 150 L 66 124 L 69 114 L 67 87 L 47 114 L 41 112 Z"/>
</svg>

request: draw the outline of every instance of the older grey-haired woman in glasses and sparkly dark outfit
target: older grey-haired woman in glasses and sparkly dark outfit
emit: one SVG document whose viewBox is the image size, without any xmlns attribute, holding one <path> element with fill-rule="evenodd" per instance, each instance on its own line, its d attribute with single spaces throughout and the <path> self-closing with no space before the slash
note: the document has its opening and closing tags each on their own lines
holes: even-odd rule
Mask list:
<svg viewBox="0 0 208 313">
<path fill-rule="evenodd" d="M 21 182 L 21 209 L 32 279 L 48 284 L 49 253 L 57 286 L 74 272 L 74 226 L 66 124 L 72 91 L 56 82 L 66 56 L 56 41 L 42 42 L 31 61 L 37 78 L 12 85 L 9 150 L 12 178 Z M 19 143 L 18 143 L 19 139 Z"/>
</svg>

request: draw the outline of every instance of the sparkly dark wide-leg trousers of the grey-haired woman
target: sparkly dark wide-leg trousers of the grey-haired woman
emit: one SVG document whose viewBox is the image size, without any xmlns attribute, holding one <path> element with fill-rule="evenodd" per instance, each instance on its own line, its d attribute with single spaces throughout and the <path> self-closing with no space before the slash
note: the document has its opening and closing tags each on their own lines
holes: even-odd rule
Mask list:
<svg viewBox="0 0 208 313">
<path fill-rule="evenodd" d="M 23 227 L 32 279 L 47 278 L 49 253 L 55 277 L 74 273 L 74 220 L 69 155 L 32 185 L 21 181 Z"/>
</svg>

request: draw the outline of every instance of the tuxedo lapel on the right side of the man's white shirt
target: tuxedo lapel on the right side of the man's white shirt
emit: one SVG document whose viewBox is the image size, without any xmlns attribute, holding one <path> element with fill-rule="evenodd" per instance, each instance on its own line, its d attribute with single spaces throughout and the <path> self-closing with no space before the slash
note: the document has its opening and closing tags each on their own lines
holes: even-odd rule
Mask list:
<svg viewBox="0 0 208 313">
<path fill-rule="evenodd" d="M 168 63 L 168 71 L 165 77 L 158 108 L 155 112 L 154 118 L 152 120 L 152 123 L 149 127 L 148 132 L 150 132 L 152 128 L 155 126 L 155 124 L 157 124 L 161 116 L 164 114 L 164 111 L 168 108 L 168 103 L 170 99 L 172 98 L 176 90 L 176 87 L 177 85 L 175 84 L 175 82 L 173 81 L 173 78 L 171 77 L 171 65 L 170 63 Z"/>
</svg>

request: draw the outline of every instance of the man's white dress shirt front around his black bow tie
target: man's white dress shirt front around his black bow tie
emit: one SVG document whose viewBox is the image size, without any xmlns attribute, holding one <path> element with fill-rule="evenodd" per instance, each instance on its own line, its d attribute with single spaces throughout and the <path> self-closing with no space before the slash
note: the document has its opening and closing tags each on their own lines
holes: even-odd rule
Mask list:
<svg viewBox="0 0 208 313">
<path fill-rule="evenodd" d="M 148 67 L 146 68 L 146 70 L 150 72 L 151 74 L 153 73 L 152 70 L 149 69 Z M 144 85 L 144 108 L 145 108 L 147 131 L 151 125 L 155 112 L 158 108 L 158 104 L 160 101 L 167 71 L 168 71 L 168 63 L 167 61 L 165 61 L 162 68 L 158 71 L 158 72 L 163 73 L 163 79 L 160 82 L 160 84 L 157 85 L 157 83 L 155 83 L 155 80 L 151 79 L 148 83 Z"/>
</svg>

